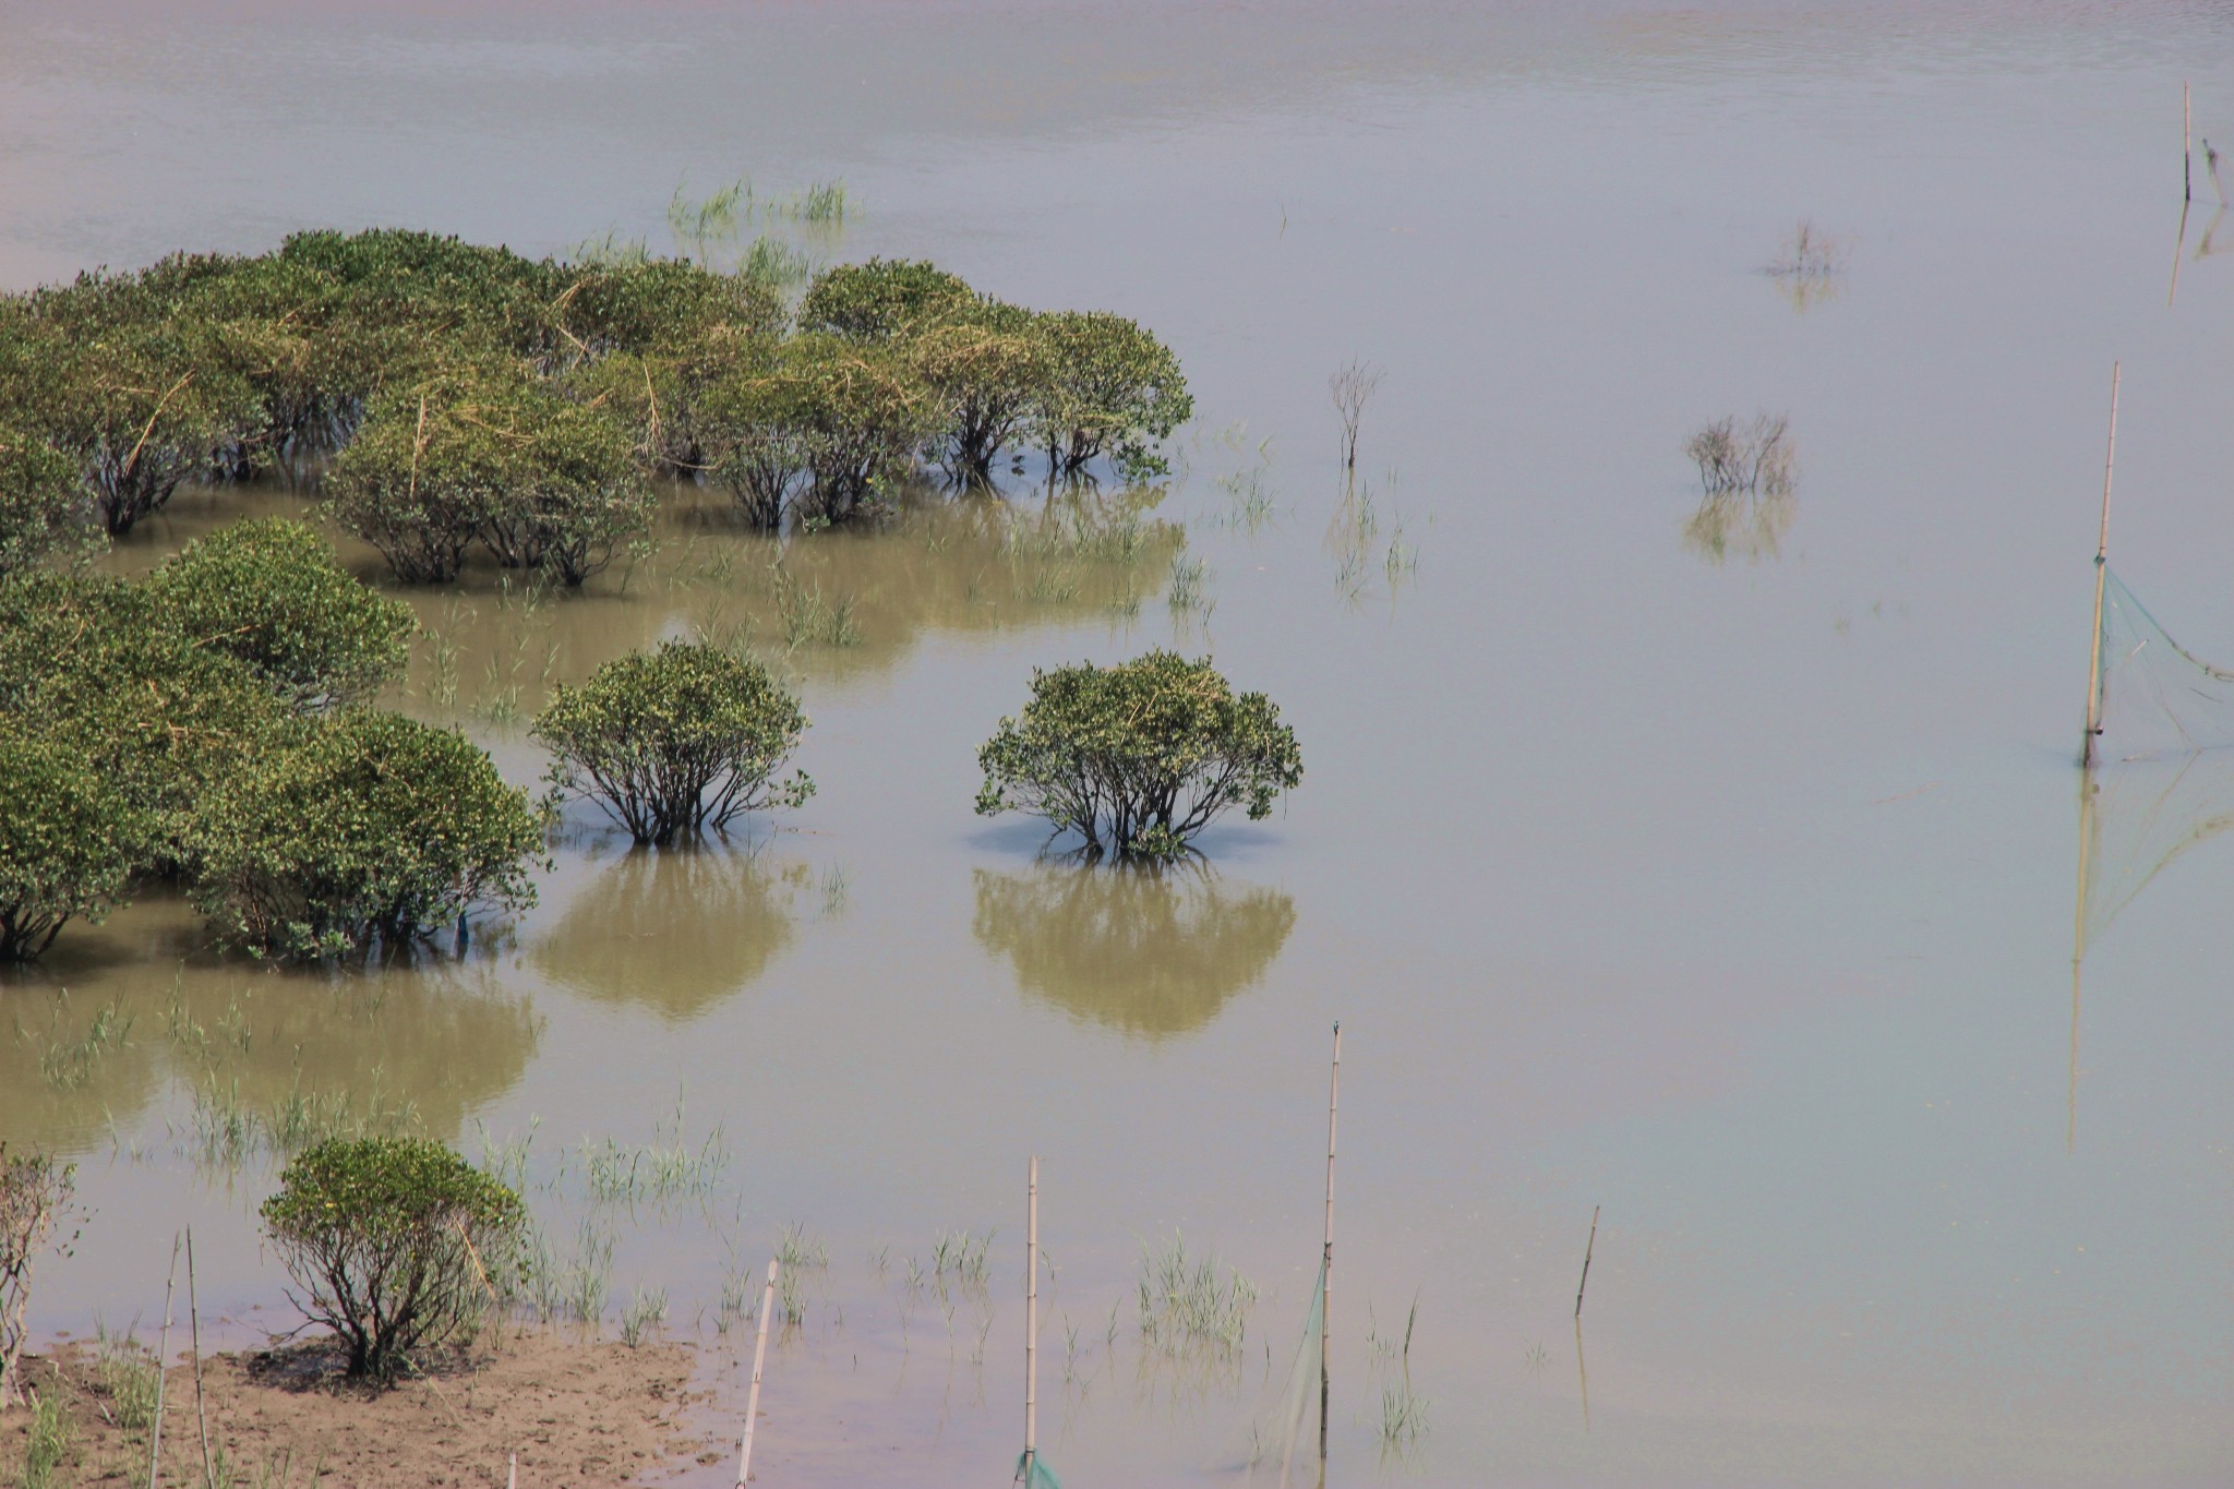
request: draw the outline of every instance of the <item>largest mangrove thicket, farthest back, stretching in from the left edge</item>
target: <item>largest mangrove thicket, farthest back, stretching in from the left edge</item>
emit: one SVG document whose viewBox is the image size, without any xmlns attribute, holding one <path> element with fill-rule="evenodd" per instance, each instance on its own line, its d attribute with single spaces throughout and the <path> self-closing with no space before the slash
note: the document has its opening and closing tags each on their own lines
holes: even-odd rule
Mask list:
<svg viewBox="0 0 2234 1489">
<path fill-rule="evenodd" d="M 404 583 L 447 583 L 480 547 L 579 585 L 646 529 L 655 471 L 708 475 L 777 529 L 849 520 L 925 462 L 954 480 L 1025 449 L 1050 478 L 1164 469 L 1193 404 L 1124 317 L 882 259 L 824 270 L 793 317 L 804 266 L 782 243 L 710 268 L 739 219 L 844 210 L 842 185 L 755 203 L 739 183 L 677 196 L 695 259 L 297 232 L 0 297 L 0 571 L 92 520 L 125 534 L 188 480 L 326 455 L 335 520 Z"/>
</svg>

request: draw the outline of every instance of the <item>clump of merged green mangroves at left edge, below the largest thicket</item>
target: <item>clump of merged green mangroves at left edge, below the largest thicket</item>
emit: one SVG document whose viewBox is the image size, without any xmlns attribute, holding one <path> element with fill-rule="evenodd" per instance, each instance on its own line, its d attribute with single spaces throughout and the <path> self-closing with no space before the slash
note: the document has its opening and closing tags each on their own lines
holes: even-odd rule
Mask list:
<svg viewBox="0 0 2234 1489">
<path fill-rule="evenodd" d="M 521 902 L 541 842 L 525 795 L 476 746 L 353 708 L 409 630 L 295 522 L 237 525 L 141 583 L 0 578 L 0 960 L 141 875 L 188 882 L 221 933 L 279 955 Z"/>
</svg>

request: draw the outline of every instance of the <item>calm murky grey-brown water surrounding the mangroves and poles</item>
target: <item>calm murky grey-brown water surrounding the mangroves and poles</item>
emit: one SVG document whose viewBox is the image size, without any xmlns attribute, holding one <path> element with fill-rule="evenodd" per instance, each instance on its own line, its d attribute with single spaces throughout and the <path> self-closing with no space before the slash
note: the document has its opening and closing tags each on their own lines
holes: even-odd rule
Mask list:
<svg viewBox="0 0 2234 1489">
<path fill-rule="evenodd" d="M 610 1317 L 666 1286 L 722 1357 L 722 1275 L 827 1241 L 766 1482 L 992 1482 L 1037 1152 L 1048 1462 L 1204 1482 L 1302 1322 L 1340 1018 L 1329 1480 L 2223 1482 L 2234 857 L 2178 855 L 2071 969 L 2113 357 L 2118 567 L 2234 656 L 2200 150 L 2167 306 L 2183 78 L 2234 141 L 2234 33 L 2183 4 L 0 9 L 7 284 L 308 223 L 663 243 L 679 179 L 844 176 L 838 252 L 1135 315 L 1202 409 L 1130 516 L 1016 491 L 777 554 L 679 496 L 583 596 L 409 596 L 402 703 L 512 779 L 550 681 L 748 627 L 820 795 L 695 857 L 581 817 L 534 913 L 411 973 L 214 962 L 163 902 L 69 931 L 0 987 L 0 1136 L 80 1154 L 96 1210 L 42 1322 L 154 1317 L 183 1221 L 235 1335 L 286 1315 L 270 1161 L 197 1092 L 409 1105 L 476 1154 L 534 1132 L 561 1257 L 614 1237 Z M 1830 295 L 1760 272 L 1801 217 Z M 1369 525 L 1352 355 L 1387 373 Z M 1756 409 L 1794 502 L 1700 513 L 1682 442 Z M 297 505 L 185 496 L 116 563 Z M 1034 665 L 1153 643 L 1296 723 L 1271 822 L 1139 880 L 970 813 Z M 121 1045 L 42 1069 L 112 1002 Z M 592 1203 L 605 1139 L 710 1181 Z M 983 1297 L 914 1290 L 961 1228 L 999 1228 Z M 1238 1368 L 1139 1346 L 1175 1228 L 1264 1293 Z M 1430 1431 L 1392 1458 L 1369 1335 L 1414 1295 Z"/>
</svg>

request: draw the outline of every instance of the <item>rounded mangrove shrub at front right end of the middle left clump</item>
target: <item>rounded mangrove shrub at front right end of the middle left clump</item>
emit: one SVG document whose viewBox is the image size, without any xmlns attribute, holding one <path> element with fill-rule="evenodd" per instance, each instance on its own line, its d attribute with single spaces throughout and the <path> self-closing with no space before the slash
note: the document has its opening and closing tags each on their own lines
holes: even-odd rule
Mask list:
<svg viewBox="0 0 2234 1489">
<path fill-rule="evenodd" d="M 485 750 L 351 710 L 288 726 L 203 792 L 194 904 L 255 955 L 402 955 L 476 904 L 534 904 L 541 844 L 541 817 Z"/>
</svg>

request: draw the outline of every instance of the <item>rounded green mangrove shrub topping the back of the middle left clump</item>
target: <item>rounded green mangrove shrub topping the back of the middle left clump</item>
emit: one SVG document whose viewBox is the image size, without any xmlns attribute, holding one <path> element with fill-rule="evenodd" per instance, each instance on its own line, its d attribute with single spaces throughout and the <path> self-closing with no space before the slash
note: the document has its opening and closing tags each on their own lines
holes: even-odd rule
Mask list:
<svg viewBox="0 0 2234 1489">
<path fill-rule="evenodd" d="M 364 703 L 402 676 L 418 623 L 333 558 L 302 522 L 221 527 L 147 578 L 190 641 L 239 659 L 288 708 Z"/>
</svg>

